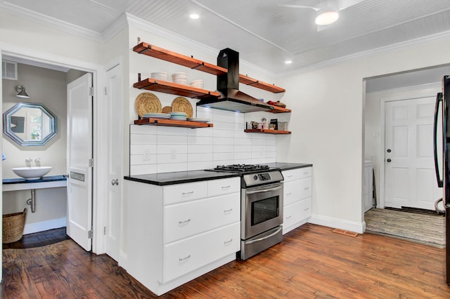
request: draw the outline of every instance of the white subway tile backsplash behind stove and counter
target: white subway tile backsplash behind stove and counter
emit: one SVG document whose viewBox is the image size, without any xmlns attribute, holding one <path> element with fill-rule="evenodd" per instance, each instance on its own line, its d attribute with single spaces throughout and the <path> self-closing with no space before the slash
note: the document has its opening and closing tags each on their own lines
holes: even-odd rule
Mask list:
<svg viewBox="0 0 450 299">
<path fill-rule="evenodd" d="M 245 114 L 197 107 L 196 115 L 214 127 L 130 125 L 130 174 L 276 161 L 276 135 L 245 133 Z"/>
</svg>

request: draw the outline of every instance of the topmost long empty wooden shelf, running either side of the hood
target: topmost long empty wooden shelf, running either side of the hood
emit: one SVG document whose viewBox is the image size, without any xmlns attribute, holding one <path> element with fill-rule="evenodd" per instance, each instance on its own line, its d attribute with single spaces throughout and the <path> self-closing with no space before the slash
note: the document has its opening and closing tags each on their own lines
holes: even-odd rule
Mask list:
<svg viewBox="0 0 450 299">
<path fill-rule="evenodd" d="M 148 55 L 161 60 L 176 63 L 177 65 L 183 65 L 184 67 L 189 67 L 191 69 L 198 69 L 202 72 L 207 72 L 208 74 L 221 75 L 226 74 L 228 69 L 224 67 L 219 67 L 217 65 L 212 65 L 210 63 L 204 62 L 193 58 L 192 56 L 182 55 L 176 52 L 166 50 L 165 48 L 160 48 L 153 46 L 151 44 L 142 42 L 134 46 L 133 51 L 139 54 Z M 270 91 L 271 93 L 284 93 L 285 89 L 275 86 L 274 84 L 269 84 L 257 79 L 250 78 L 246 75 L 239 74 L 239 82 L 242 84 L 250 85 L 264 91 Z"/>
</svg>

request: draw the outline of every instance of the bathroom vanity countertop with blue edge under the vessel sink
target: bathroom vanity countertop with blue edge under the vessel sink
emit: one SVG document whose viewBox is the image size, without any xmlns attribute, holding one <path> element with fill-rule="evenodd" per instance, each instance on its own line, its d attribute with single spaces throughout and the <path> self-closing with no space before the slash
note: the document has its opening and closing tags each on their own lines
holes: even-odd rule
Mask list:
<svg viewBox="0 0 450 299">
<path fill-rule="evenodd" d="M 68 178 L 65 175 L 49 175 L 38 180 L 25 178 L 4 178 L 3 191 L 31 190 L 43 188 L 66 187 Z"/>
</svg>

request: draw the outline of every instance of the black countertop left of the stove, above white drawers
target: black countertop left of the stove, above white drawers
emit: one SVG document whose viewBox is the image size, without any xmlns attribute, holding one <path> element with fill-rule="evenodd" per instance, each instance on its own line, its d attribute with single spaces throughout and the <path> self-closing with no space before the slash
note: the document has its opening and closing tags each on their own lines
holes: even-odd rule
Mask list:
<svg viewBox="0 0 450 299">
<path fill-rule="evenodd" d="M 202 180 L 217 180 L 219 178 L 238 177 L 239 173 L 226 173 L 217 171 L 178 171 L 174 173 L 153 173 L 145 175 L 127 175 L 125 180 L 145 182 L 146 184 L 165 186 L 182 184 L 185 182 L 200 182 Z"/>
</svg>

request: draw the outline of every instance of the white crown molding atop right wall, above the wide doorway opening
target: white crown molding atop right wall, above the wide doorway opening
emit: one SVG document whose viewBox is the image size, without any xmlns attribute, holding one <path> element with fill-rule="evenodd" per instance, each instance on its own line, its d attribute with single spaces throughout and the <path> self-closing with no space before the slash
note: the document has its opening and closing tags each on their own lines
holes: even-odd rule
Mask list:
<svg viewBox="0 0 450 299">
<path fill-rule="evenodd" d="M 384 47 L 380 47 L 380 48 L 374 48 L 368 51 L 362 51 L 362 52 L 358 52 L 358 53 L 354 53 L 351 55 L 347 55 L 347 56 L 343 56 L 340 58 L 335 58 L 335 59 L 331 59 L 331 60 L 326 60 L 323 62 L 318 62 L 318 63 L 314 63 L 312 65 L 307 65 L 306 67 L 298 67 L 296 69 L 293 69 L 292 71 L 289 72 L 283 72 L 281 74 L 281 76 L 283 77 L 287 77 L 290 75 L 294 75 L 294 74 L 302 74 L 305 72 L 311 72 L 317 69 L 321 69 L 324 67 L 330 67 L 333 65 L 338 65 L 341 62 L 345 62 L 348 60 L 354 60 L 356 58 L 365 58 L 371 55 L 375 55 L 378 53 L 383 53 L 383 52 L 388 52 L 388 51 L 395 51 L 395 50 L 399 50 L 401 48 L 408 48 L 410 46 L 420 46 L 420 45 L 424 45 L 424 44 L 429 44 L 431 42 L 434 41 L 439 41 L 442 39 L 450 39 L 450 30 L 446 31 L 446 32 L 439 32 L 437 34 L 432 34 L 432 35 L 428 35 L 428 36 L 424 36 L 424 37 L 420 37 L 418 39 L 410 39 L 409 41 L 402 41 L 400 43 L 397 44 L 392 44 L 389 46 L 384 46 Z"/>
</svg>

